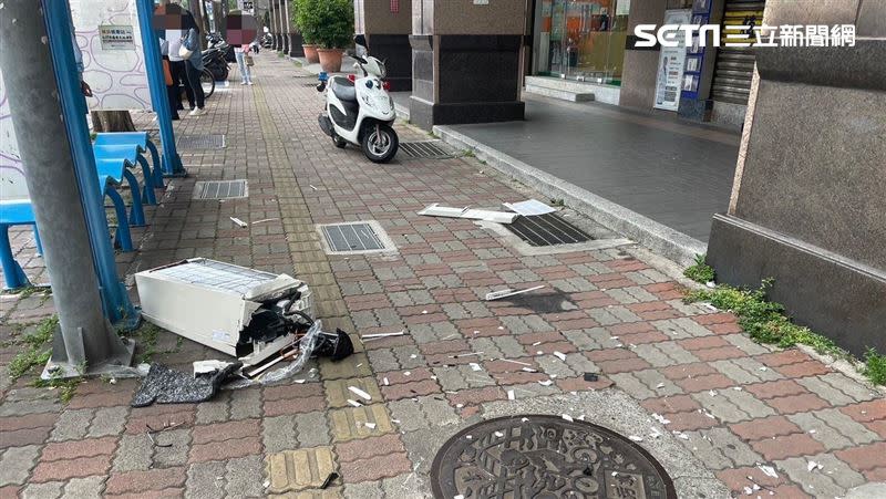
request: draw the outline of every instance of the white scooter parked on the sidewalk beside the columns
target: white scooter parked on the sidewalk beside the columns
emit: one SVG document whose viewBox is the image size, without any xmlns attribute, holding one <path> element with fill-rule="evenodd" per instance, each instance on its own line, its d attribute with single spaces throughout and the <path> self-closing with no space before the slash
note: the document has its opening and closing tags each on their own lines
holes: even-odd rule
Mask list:
<svg viewBox="0 0 886 499">
<path fill-rule="evenodd" d="M 354 42 L 365 49 L 362 34 L 354 37 Z M 332 137 L 336 147 L 351 143 L 361 147 L 371 162 L 388 163 L 396 154 L 400 141 L 393 129 L 394 101 L 383 81 L 384 63 L 370 55 L 352 56 L 362 77 L 351 81 L 331 76 L 317 85 L 318 92 L 326 91 L 326 107 L 318 118 L 320 128 Z"/>
</svg>

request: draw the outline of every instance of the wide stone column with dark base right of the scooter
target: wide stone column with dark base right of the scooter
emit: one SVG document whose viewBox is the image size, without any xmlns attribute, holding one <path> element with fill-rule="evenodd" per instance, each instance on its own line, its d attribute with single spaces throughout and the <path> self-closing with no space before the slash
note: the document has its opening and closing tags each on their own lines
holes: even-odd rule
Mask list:
<svg viewBox="0 0 886 499">
<path fill-rule="evenodd" d="M 426 129 L 523 119 L 526 15 L 527 0 L 412 0 L 410 119 Z"/>
</svg>

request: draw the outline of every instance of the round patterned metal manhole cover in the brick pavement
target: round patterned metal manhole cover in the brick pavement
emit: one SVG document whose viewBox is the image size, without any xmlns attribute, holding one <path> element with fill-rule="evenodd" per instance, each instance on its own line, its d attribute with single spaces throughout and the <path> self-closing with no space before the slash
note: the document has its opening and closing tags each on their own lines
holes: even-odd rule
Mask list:
<svg viewBox="0 0 886 499">
<path fill-rule="evenodd" d="M 555 416 L 502 417 L 460 432 L 437 453 L 431 479 L 434 496 L 446 499 L 677 498 L 637 444 Z"/>
</svg>

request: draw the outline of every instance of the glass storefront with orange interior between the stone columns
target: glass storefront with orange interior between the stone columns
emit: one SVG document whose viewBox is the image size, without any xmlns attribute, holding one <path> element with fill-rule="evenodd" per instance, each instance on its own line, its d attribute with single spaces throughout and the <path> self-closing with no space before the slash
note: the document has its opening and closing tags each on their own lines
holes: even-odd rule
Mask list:
<svg viewBox="0 0 886 499">
<path fill-rule="evenodd" d="M 540 0 L 539 73 L 619 84 L 630 0 Z"/>
</svg>

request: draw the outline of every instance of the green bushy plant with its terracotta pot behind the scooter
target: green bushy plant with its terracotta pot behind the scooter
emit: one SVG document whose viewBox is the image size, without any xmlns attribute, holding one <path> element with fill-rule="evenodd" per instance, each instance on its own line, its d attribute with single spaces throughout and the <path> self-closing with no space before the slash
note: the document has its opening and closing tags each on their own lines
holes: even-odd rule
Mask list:
<svg viewBox="0 0 886 499">
<path fill-rule="evenodd" d="M 320 66 L 327 73 L 340 72 L 342 52 L 353 38 L 353 1 L 297 1 L 298 27 L 306 40 L 318 44 Z"/>
</svg>

